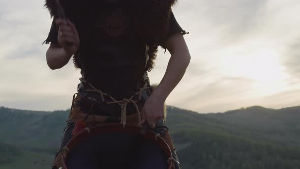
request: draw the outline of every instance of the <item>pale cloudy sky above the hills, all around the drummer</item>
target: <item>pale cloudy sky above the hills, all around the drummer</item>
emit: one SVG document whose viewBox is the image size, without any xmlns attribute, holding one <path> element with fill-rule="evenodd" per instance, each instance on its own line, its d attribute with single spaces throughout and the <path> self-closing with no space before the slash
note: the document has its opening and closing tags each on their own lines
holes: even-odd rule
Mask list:
<svg viewBox="0 0 300 169">
<path fill-rule="evenodd" d="M 80 71 L 46 64 L 51 18 L 38 0 L 0 0 L 0 106 L 61 110 L 71 106 Z M 174 15 L 191 62 L 166 100 L 199 113 L 260 105 L 300 105 L 300 1 L 179 0 Z M 151 83 L 170 54 L 159 51 Z"/>
</svg>

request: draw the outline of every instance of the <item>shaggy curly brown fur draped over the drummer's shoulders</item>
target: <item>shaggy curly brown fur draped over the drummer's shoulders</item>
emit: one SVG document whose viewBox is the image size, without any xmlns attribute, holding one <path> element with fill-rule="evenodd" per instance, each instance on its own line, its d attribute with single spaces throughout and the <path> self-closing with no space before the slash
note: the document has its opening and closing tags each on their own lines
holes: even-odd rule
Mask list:
<svg viewBox="0 0 300 169">
<path fill-rule="evenodd" d="M 84 13 L 88 13 L 91 6 L 104 8 L 103 3 L 118 0 L 59 0 L 66 11 L 66 15 L 77 15 L 76 17 L 84 17 Z M 147 70 L 150 71 L 154 67 L 154 60 L 157 56 L 158 46 L 166 39 L 169 32 L 169 19 L 171 7 L 177 0 L 127 0 L 127 8 L 133 11 L 132 15 L 136 32 L 149 45 L 149 62 Z M 55 16 L 56 3 L 55 0 L 45 0 L 45 7 L 49 10 L 51 16 Z M 78 12 L 78 9 L 80 11 Z M 72 19 L 70 19 L 72 20 Z M 80 68 L 78 63 L 78 55 L 74 55 L 74 65 Z"/>
</svg>

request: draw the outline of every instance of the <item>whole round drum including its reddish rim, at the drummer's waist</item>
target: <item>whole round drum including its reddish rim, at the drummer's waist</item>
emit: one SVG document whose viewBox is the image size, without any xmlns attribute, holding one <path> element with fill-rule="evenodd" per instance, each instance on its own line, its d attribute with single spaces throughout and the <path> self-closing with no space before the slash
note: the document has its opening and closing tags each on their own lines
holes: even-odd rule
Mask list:
<svg viewBox="0 0 300 169">
<path fill-rule="evenodd" d="M 86 128 L 63 148 L 63 169 L 173 168 L 172 152 L 157 133 L 135 125 L 107 124 Z"/>
</svg>

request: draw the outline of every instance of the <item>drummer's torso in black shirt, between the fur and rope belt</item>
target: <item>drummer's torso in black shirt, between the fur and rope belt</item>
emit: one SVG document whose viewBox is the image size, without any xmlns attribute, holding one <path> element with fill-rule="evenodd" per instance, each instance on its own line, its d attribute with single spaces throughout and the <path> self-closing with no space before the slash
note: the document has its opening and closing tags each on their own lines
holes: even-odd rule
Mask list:
<svg viewBox="0 0 300 169">
<path fill-rule="evenodd" d="M 133 15 L 126 4 L 107 2 L 70 18 L 80 37 L 82 75 L 111 95 L 138 90 L 146 80 L 146 44 L 133 27 Z"/>
</svg>

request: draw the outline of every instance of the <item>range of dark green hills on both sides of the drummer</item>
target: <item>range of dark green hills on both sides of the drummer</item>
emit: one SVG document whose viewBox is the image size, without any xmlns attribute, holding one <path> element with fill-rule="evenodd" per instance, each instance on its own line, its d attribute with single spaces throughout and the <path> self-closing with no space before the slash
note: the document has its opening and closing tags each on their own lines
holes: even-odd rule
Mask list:
<svg viewBox="0 0 300 169">
<path fill-rule="evenodd" d="M 183 169 L 300 168 L 300 106 L 253 106 L 223 114 L 167 109 Z M 49 168 L 68 116 L 69 110 L 0 107 L 0 169 Z"/>
</svg>

